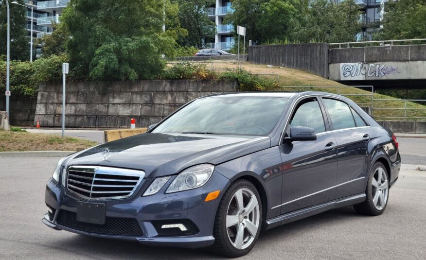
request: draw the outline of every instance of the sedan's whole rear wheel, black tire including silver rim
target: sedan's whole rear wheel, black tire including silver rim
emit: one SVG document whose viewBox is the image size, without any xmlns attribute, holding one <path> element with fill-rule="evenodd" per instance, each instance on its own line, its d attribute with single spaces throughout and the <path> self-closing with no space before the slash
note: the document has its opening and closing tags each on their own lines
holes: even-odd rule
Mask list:
<svg viewBox="0 0 426 260">
<path fill-rule="evenodd" d="M 389 201 L 389 174 L 381 162 L 374 163 L 370 170 L 364 202 L 354 205 L 356 212 L 378 216 L 385 211 Z"/>
</svg>

